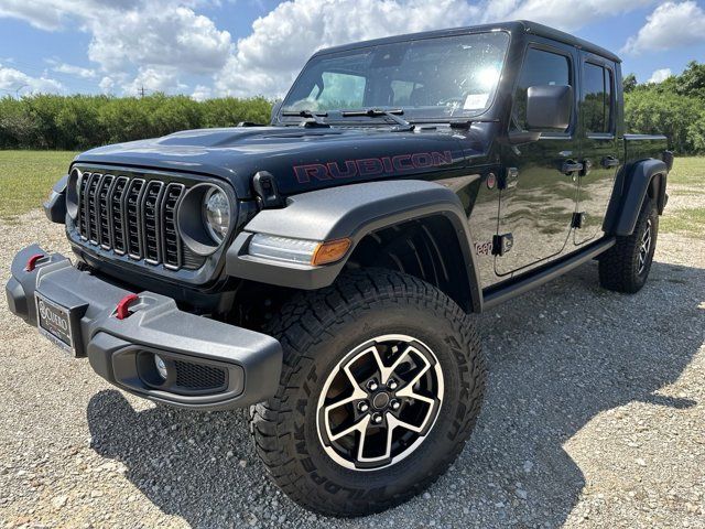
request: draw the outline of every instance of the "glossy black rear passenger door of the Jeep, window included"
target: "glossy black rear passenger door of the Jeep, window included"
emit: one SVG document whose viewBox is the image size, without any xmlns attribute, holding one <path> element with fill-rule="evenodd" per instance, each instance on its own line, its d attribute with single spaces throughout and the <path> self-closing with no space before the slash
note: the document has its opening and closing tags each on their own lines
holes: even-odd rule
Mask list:
<svg viewBox="0 0 705 529">
<path fill-rule="evenodd" d="M 574 241 L 583 245 L 603 233 L 603 220 L 619 168 L 616 132 L 615 65 L 581 53 L 579 136 L 584 166 L 579 176 L 577 212 L 583 225 Z"/>
</svg>

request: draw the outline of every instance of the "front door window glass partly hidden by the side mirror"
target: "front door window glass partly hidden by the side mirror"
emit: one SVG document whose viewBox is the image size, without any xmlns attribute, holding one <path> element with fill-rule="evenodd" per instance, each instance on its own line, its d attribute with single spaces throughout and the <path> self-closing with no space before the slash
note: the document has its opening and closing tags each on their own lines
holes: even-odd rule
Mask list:
<svg viewBox="0 0 705 529">
<path fill-rule="evenodd" d="M 530 47 L 514 93 L 513 127 L 527 128 L 527 91 L 531 86 L 572 86 L 571 61 L 565 55 Z"/>
</svg>

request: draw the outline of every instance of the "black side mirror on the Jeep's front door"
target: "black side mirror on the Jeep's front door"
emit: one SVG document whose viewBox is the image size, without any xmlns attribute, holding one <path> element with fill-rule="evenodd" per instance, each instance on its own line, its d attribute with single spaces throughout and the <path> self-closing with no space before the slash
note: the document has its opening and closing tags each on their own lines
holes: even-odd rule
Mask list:
<svg viewBox="0 0 705 529">
<path fill-rule="evenodd" d="M 530 86 L 527 91 L 527 128 L 530 131 L 565 131 L 573 112 L 573 87 Z"/>
</svg>

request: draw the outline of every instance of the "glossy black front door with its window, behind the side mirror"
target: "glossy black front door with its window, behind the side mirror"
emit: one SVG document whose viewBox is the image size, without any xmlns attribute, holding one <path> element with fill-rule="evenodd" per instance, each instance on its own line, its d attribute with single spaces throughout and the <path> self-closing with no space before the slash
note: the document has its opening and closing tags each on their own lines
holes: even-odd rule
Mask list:
<svg viewBox="0 0 705 529">
<path fill-rule="evenodd" d="M 527 48 L 514 90 L 511 130 L 524 130 L 530 86 L 571 85 L 577 54 L 533 43 Z M 576 95 L 577 99 L 577 95 Z M 571 233 L 579 166 L 577 119 L 565 132 L 545 132 L 539 141 L 503 147 L 506 182 L 500 192 L 498 237 L 511 249 L 495 259 L 498 276 L 520 271 L 560 253 Z M 501 239 L 499 239 L 501 240 Z M 496 249 L 497 251 L 497 249 Z"/>
</svg>

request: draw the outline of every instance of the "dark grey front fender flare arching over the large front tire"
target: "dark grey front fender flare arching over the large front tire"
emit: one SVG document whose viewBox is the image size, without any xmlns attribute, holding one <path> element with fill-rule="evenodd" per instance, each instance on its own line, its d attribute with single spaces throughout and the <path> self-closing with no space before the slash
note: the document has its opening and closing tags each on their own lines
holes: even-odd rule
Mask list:
<svg viewBox="0 0 705 529">
<path fill-rule="evenodd" d="M 468 176 L 468 183 L 479 176 Z M 294 195 L 285 207 L 263 209 L 245 226 L 226 256 L 226 273 L 280 287 L 316 290 L 332 284 L 357 244 L 368 234 L 406 220 L 441 215 L 458 238 L 470 284 L 473 307 L 481 309 L 467 215 L 457 195 L 433 182 L 419 180 L 369 182 Z M 254 234 L 310 240 L 348 237 L 352 245 L 340 261 L 321 267 L 264 260 L 248 255 Z"/>
</svg>

